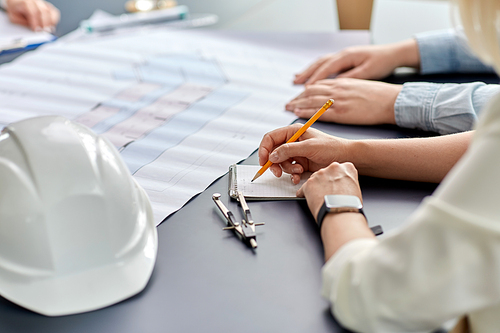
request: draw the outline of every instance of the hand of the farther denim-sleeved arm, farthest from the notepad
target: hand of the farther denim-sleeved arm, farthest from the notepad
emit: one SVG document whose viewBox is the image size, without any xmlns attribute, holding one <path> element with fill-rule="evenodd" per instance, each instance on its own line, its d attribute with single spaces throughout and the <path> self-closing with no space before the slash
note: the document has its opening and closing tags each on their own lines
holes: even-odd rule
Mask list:
<svg viewBox="0 0 500 333">
<path fill-rule="evenodd" d="M 378 80 L 401 66 L 420 66 L 420 55 L 415 39 L 386 45 L 348 47 L 338 53 L 327 54 L 302 73 L 295 75 L 295 84 L 313 84 L 331 75 L 356 79 Z"/>
</svg>

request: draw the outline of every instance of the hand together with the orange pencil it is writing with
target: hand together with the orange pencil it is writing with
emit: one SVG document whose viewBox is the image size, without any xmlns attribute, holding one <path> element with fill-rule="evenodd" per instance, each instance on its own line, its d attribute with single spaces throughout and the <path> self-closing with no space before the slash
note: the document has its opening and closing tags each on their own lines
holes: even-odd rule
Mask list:
<svg viewBox="0 0 500 333">
<path fill-rule="evenodd" d="M 254 180 L 268 168 L 280 177 L 282 171 L 292 174 L 292 180 L 297 183 L 300 173 L 317 171 L 336 161 L 336 147 L 346 141 L 308 128 L 333 104 L 329 100 L 323 107 L 304 124 L 295 124 L 267 133 L 259 146 L 259 163 L 263 167 L 257 172 Z M 295 142 L 295 141 L 299 142 Z"/>
</svg>

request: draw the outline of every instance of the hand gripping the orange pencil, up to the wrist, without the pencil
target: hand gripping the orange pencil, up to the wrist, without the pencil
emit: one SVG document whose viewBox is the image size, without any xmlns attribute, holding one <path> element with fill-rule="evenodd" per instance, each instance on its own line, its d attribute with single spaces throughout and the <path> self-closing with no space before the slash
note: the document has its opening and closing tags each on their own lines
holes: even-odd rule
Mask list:
<svg viewBox="0 0 500 333">
<path fill-rule="evenodd" d="M 270 160 L 274 163 L 271 172 L 276 177 L 281 177 L 283 171 L 290 173 L 294 184 L 299 183 L 303 172 L 314 172 L 332 162 L 344 161 L 349 142 L 309 128 L 297 142 L 286 143 L 301 126 L 294 124 L 271 131 L 264 135 L 259 146 L 260 165 Z"/>
</svg>

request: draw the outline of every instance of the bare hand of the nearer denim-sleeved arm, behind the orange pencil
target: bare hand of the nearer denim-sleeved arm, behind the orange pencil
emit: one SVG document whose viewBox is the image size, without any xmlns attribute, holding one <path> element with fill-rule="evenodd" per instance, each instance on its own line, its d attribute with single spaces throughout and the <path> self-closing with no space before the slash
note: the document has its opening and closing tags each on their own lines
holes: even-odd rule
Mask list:
<svg viewBox="0 0 500 333">
<path fill-rule="evenodd" d="M 306 86 L 286 109 L 300 118 L 310 118 L 332 98 L 335 103 L 321 116 L 322 121 L 341 124 L 396 124 L 394 104 L 402 86 L 359 79 L 329 79 Z"/>
</svg>

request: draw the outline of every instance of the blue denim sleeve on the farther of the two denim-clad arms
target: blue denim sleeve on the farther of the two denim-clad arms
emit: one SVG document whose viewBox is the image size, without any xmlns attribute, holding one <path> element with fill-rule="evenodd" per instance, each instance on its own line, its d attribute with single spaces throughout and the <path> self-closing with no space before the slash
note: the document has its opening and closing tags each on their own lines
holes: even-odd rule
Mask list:
<svg viewBox="0 0 500 333">
<path fill-rule="evenodd" d="M 464 38 L 454 30 L 416 34 L 420 53 L 420 73 L 493 73 L 470 51 Z"/>
</svg>

